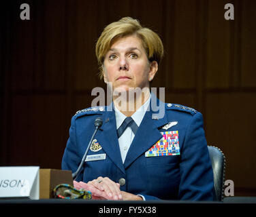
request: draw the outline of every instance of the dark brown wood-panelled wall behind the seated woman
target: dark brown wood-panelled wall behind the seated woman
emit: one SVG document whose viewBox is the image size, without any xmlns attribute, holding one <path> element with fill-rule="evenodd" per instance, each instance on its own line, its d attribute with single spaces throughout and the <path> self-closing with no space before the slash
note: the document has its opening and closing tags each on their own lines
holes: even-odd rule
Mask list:
<svg viewBox="0 0 256 217">
<path fill-rule="evenodd" d="M 20 19 L 20 5 L 30 20 Z M 234 20 L 225 20 L 226 3 Z M 91 106 L 95 43 L 124 16 L 159 33 L 165 58 L 153 87 L 200 111 L 208 145 L 226 157 L 235 196 L 256 196 L 256 1 L 37 0 L 1 2 L 0 166 L 61 169 L 71 117 Z"/>
</svg>

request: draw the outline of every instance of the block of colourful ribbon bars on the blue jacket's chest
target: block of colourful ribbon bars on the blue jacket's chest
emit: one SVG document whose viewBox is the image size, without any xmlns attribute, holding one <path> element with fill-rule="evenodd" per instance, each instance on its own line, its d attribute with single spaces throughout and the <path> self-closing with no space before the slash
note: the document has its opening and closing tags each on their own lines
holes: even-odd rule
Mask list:
<svg viewBox="0 0 256 217">
<path fill-rule="evenodd" d="M 146 151 L 145 157 L 180 155 L 178 130 L 161 132 L 161 134 L 163 138 Z"/>
</svg>

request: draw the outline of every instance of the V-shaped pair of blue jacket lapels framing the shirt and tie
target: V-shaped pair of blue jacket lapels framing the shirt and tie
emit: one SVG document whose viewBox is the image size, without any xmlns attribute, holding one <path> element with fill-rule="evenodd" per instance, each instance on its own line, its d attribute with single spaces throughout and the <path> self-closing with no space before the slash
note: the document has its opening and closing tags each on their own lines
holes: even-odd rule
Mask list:
<svg viewBox="0 0 256 217">
<path fill-rule="evenodd" d="M 150 103 L 150 101 L 152 100 L 153 104 Z M 148 151 L 148 149 L 150 149 L 153 144 L 155 144 L 158 140 L 162 138 L 162 134 L 159 132 L 158 128 L 168 123 L 167 115 L 165 114 L 165 112 L 163 117 L 159 117 L 157 108 L 156 106 L 154 106 L 155 103 L 157 103 L 157 105 L 163 104 L 164 106 L 164 102 L 160 102 L 155 94 L 151 93 L 147 103 L 150 106 L 150 109 L 148 109 L 148 111 L 142 109 L 142 111 L 146 111 L 146 113 L 144 113 L 144 115 L 140 115 L 142 118 L 142 121 L 140 123 L 141 126 L 138 128 L 138 132 L 133 138 L 133 142 L 131 143 L 124 163 L 121 158 L 116 130 L 113 130 L 113 127 L 117 126 L 117 113 L 114 110 L 114 103 L 112 102 L 109 106 L 107 106 L 106 112 L 103 113 L 103 125 L 99 130 L 97 140 L 99 144 L 101 144 L 102 149 L 106 151 L 107 155 L 123 172 L 123 174 L 125 174 L 125 169 L 127 169 L 127 167 L 129 167 L 129 165 L 131 165 L 131 163 L 135 161 L 135 159 Z M 144 105 L 146 106 L 146 102 Z M 157 119 L 153 118 L 153 115 L 157 115 Z"/>
</svg>

